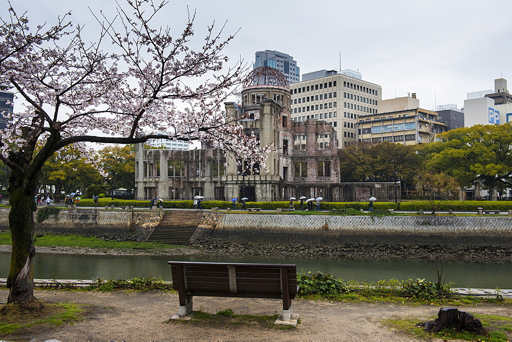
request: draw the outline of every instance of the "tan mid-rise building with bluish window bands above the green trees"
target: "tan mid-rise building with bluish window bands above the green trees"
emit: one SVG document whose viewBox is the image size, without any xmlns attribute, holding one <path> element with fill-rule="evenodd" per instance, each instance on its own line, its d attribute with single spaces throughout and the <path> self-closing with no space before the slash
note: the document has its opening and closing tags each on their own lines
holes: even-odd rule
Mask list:
<svg viewBox="0 0 512 342">
<path fill-rule="evenodd" d="M 412 94 L 380 101 L 378 112 L 359 116 L 356 127 L 361 142 L 414 145 L 439 141 L 437 134 L 446 131 L 447 125 L 437 112 L 419 108 L 419 100 Z"/>
</svg>

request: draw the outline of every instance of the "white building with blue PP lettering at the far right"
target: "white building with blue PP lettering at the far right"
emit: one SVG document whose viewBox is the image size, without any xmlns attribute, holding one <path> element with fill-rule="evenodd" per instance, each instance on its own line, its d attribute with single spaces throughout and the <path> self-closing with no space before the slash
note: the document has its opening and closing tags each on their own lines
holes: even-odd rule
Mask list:
<svg viewBox="0 0 512 342">
<path fill-rule="evenodd" d="M 467 93 L 464 100 L 464 124 L 491 125 L 512 122 L 512 97 L 503 78 L 494 80 L 493 90 Z"/>
</svg>

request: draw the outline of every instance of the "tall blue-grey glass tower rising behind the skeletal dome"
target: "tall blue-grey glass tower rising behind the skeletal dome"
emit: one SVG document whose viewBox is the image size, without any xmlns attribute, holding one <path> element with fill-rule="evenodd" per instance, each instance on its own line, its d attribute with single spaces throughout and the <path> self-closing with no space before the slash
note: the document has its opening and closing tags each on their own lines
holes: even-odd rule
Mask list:
<svg viewBox="0 0 512 342">
<path fill-rule="evenodd" d="M 256 52 L 256 61 L 252 69 L 261 66 L 273 67 L 285 75 L 288 83 L 295 83 L 301 80 L 301 70 L 293 57 L 279 51 L 258 51 Z"/>
</svg>

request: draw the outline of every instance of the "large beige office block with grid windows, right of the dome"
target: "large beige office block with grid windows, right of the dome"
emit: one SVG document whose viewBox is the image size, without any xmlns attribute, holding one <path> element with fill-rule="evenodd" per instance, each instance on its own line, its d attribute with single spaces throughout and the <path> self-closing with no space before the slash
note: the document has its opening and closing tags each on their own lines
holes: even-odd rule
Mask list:
<svg viewBox="0 0 512 342">
<path fill-rule="evenodd" d="M 319 70 L 290 85 L 291 118 L 296 122 L 326 121 L 336 131 L 339 148 L 358 141 L 360 116 L 376 114 L 382 88 L 351 70 Z"/>
</svg>

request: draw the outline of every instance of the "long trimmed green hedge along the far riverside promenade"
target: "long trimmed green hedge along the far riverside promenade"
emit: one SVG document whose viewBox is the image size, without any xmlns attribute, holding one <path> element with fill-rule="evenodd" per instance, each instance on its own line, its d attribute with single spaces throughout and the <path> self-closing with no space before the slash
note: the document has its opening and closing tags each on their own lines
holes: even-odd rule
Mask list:
<svg viewBox="0 0 512 342">
<path fill-rule="evenodd" d="M 98 207 L 104 206 L 134 206 L 134 207 L 150 207 L 150 201 L 136 201 L 126 199 L 110 199 L 100 198 L 98 201 Z M 78 203 L 81 207 L 94 207 L 94 201 L 92 199 L 82 199 Z M 300 208 L 300 202 L 294 202 L 295 209 Z M 163 202 L 164 208 L 176 208 L 176 209 L 193 209 L 194 204 L 191 200 L 186 201 L 165 201 Z M 201 202 L 203 209 L 211 209 L 214 207 L 226 209 L 232 208 L 232 202 L 227 201 L 204 201 Z M 275 210 L 278 208 L 286 209 L 289 208 L 289 201 L 281 202 L 247 202 L 247 208 L 261 208 L 264 210 Z M 306 208 L 306 203 L 304 203 Z M 387 210 L 396 209 L 396 203 L 394 202 L 375 202 L 373 208 L 375 210 Z M 241 203 L 237 203 L 237 208 L 242 208 Z M 455 211 L 476 211 L 478 208 L 485 210 L 512 210 L 512 201 L 452 201 L 441 203 L 440 210 L 455 210 Z M 368 210 L 368 202 L 322 202 L 320 204 L 321 210 L 332 210 L 332 209 L 364 209 Z M 412 201 L 412 202 L 400 202 L 400 210 L 431 210 L 432 206 L 428 201 Z"/>
</svg>

